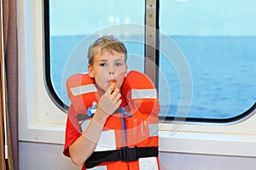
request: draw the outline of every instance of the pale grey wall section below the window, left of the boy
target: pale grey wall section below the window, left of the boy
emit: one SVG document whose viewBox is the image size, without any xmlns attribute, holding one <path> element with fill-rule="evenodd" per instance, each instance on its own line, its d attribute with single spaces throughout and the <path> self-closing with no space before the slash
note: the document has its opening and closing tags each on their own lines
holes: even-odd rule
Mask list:
<svg viewBox="0 0 256 170">
<path fill-rule="evenodd" d="M 62 144 L 19 143 L 20 170 L 76 170 L 71 160 L 62 154 Z"/>
</svg>

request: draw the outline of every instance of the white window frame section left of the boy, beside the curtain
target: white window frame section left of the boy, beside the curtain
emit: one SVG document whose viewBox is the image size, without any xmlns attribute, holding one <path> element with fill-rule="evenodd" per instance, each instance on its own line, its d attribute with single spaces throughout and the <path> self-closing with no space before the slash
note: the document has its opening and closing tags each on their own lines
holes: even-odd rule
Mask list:
<svg viewBox="0 0 256 170">
<path fill-rule="evenodd" d="M 17 2 L 19 140 L 61 144 L 67 115 L 45 88 L 42 7 L 43 1 Z"/>
</svg>

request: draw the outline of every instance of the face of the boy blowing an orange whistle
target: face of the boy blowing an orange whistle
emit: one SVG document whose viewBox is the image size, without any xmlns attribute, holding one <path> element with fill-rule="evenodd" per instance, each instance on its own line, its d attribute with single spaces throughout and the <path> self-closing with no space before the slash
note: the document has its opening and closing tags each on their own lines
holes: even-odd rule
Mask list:
<svg viewBox="0 0 256 170">
<path fill-rule="evenodd" d="M 108 50 L 102 50 L 94 55 L 93 65 L 88 65 L 90 77 L 96 80 L 96 86 L 106 92 L 111 80 L 116 81 L 116 87 L 120 88 L 126 77 L 127 65 L 125 64 L 125 54 Z"/>
</svg>

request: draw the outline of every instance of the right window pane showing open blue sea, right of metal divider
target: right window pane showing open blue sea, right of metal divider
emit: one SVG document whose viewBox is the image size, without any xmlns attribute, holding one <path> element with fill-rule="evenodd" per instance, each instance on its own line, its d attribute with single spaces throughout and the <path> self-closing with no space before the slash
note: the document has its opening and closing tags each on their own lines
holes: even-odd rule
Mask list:
<svg viewBox="0 0 256 170">
<path fill-rule="evenodd" d="M 167 116 L 226 119 L 255 103 L 255 6 L 252 0 L 160 1 L 160 46 L 166 46 L 163 37 L 169 37 L 180 50 L 172 56 L 160 54 L 160 102 Z M 188 113 L 177 111 L 179 106 L 189 107 L 189 102 L 181 102 L 182 92 L 191 88 L 182 86 L 186 81 L 178 76 L 183 74 L 177 68 L 183 61 L 174 63 L 183 58 L 193 83 Z"/>
</svg>

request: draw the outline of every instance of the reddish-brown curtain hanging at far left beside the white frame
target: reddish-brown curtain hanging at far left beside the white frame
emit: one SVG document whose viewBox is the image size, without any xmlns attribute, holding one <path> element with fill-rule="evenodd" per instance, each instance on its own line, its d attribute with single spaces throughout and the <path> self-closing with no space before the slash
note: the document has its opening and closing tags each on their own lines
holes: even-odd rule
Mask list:
<svg viewBox="0 0 256 170">
<path fill-rule="evenodd" d="M 3 3 L 3 50 L 6 71 L 7 110 L 9 120 L 10 146 L 14 169 L 19 168 L 18 149 L 18 47 L 16 0 L 2 0 Z"/>
</svg>

